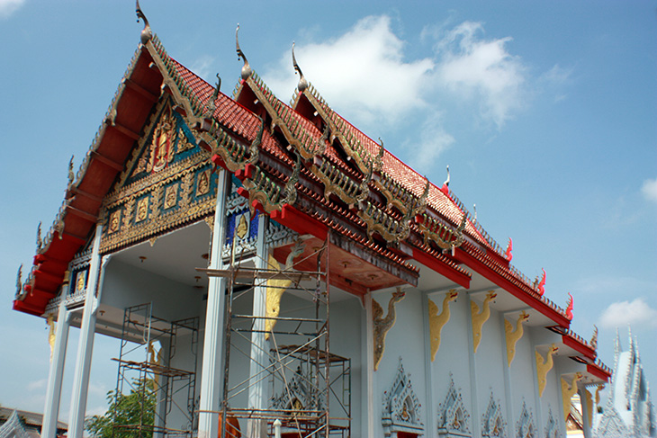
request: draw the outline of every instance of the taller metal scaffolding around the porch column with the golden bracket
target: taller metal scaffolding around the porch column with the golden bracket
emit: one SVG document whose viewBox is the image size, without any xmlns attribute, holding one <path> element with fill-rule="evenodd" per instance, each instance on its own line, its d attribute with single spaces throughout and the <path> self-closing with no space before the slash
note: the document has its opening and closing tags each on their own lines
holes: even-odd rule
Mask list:
<svg viewBox="0 0 657 438">
<path fill-rule="evenodd" d="M 350 361 L 329 352 L 327 248 L 328 243 L 313 248 L 282 269 L 271 264 L 266 264 L 266 269 L 254 268 L 258 262 L 264 265 L 255 255 L 237 264 L 231 262 L 228 269 L 207 270 L 209 276 L 227 279 L 226 366 L 220 415 L 229 424 L 238 423 L 242 434 L 255 427 L 258 436 L 275 436 L 277 428 L 282 437 L 290 438 L 351 435 Z M 317 269 L 294 269 L 309 263 Z M 283 294 L 293 296 L 298 308 L 284 308 L 281 301 L 280 314 L 262 316 L 245 311 L 259 296 L 258 288 L 266 288 L 267 294 L 278 290 L 279 298 Z M 269 310 L 273 306 L 269 295 L 266 300 Z M 254 334 L 266 336 L 266 343 L 262 338 L 254 342 L 258 339 Z M 253 370 L 258 358 L 257 372 L 245 376 L 244 369 Z M 261 395 L 266 399 L 264 407 L 248 406 L 247 396 L 255 387 L 268 391 Z M 331 409 L 338 416 L 330 416 Z M 220 438 L 232 438 L 233 434 L 237 433 L 230 426 L 220 427 Z"/>
</svg>

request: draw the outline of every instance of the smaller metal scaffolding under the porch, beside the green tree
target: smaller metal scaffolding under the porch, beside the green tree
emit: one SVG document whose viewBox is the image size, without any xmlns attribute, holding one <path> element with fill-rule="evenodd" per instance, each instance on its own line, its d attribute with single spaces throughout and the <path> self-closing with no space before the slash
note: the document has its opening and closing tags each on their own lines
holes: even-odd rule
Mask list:
<svg viewBox="0 0 657 438">
<path fill-rule="evenodd" d="M 119 370 L 114 403 L 136 394 L 139 415 L 128 420 L 112 418 L 112 436 L 191 437 L 195 424 L 196 365 L 198 358 L 198 317 L 166 321 L 152 314 L 152 303 L 126 308 L 123 312 Z M 180 339 L 189 340 L 179 352 Z M 159 344 L 156 351 L 155 346 Z M 189 351 L 186 351 L 186 350 Z M 176 354 L 184 355 L 187 370 L 174 368 Z M 143 355 L 142 355 L 143 354 Z M 190 370 L 191 369 L 191 370 Z M 155 398 L 155 403 L 148 400 Z M 184 418 L 186 426 L 172 428 L 172 415 Z"/>
</svg>

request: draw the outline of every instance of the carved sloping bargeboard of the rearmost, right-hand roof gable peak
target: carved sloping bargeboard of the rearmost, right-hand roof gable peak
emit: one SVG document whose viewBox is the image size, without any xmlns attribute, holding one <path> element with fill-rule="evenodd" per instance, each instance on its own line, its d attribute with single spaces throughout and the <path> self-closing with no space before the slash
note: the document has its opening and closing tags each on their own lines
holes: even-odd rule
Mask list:
<svg viewBox="0 0 657 438">
<path fill-rule="evenodd" d="M 342 145 L 345 152 L 347 152 L 347 156 L 355 161 L 357 167 L 363 172 L 363 174 L 367 174 L 369 164 L 374 162 L 374 157 L 365 146 L 363 146 L 360 140 L 356 138 L 351 125 L 339 117 L 336 112 L 331 110 L 329 104 L 324 101 L 313 85 L 306 88 L 306 90 L 303 91 L 303 94 L 305 94 L 309 102 L 312 103 L 315 111 L 320 114 L 321 119 L 329 126 L 331 132 L 329 143 L 333 143 L 334 139 L 338 139 L 340 145 Z"/>
</svg>

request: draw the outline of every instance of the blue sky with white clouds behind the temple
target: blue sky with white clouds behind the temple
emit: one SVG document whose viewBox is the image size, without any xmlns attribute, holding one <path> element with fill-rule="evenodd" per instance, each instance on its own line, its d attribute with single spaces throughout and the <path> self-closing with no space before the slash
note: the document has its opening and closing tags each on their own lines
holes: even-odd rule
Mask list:
<svg viewBox="0 0 657 438">
<path fill-rule="evenodd" d="M 434 183 L 446 177 L 572 328 L 613 365 L 627 324 L 657 384 L 657 4 L 655 2 L 173 2 L 141 6 L 168 53 L 230 94 L 252 67 L 279 98 L 290 48 L 329 104 Z M 11 310 L 139 43 L 130 1 L 0 0 L 0 404 L 41 411 L 43 320 Z M 77 330 L 71 331 L 70 388 Z M 87 412 L 113 388 L 117 345 L 96 337 Z M 653 394 L 653 397 L 657 395 Z M 62 398 L 67 421 L 69 391 Z"/>
</svg>

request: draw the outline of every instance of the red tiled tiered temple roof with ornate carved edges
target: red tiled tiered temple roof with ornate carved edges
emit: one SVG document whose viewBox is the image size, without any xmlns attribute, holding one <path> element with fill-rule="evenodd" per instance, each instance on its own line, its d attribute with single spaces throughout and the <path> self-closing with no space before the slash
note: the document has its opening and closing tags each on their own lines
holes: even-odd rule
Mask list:
<svg viewBox="0 0 657 438">
<path fill-rule="evenodd" d="M 242 180 L 251 208 L 318 239 L 332 233 L 332 244 L 376 258 L 371 263 L 384 272 L 372 282 L 347 279 L 339 286 L 361 294 L 415 285 L 415 260 L 468 287 L 471 274 L 465 264 L 572 337 L 563 308 L 509 264 L 453 192 L 428 182 L 356 129 L 312 85 L 297 90 L 287 105 L 253 72 L 231 99 L 169 57 L 157 37 L 140 45 L 132 59 L 55 223 L 37 248 L 28 279 L 23 284 L 19 278 L 15 309 L 42 314 L 66 282 L 67 264 L 103 219 L 103 197 L 161 92 L 173 96 L 175 111 L 211 152 L 211 160 Z M 572 344 L 594 362 L 590 345 Z"/>
</svg>

